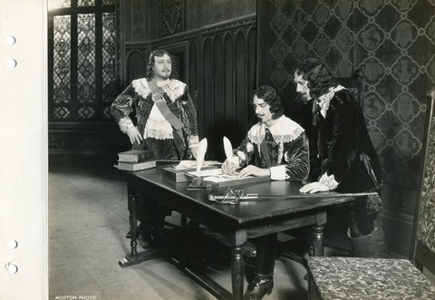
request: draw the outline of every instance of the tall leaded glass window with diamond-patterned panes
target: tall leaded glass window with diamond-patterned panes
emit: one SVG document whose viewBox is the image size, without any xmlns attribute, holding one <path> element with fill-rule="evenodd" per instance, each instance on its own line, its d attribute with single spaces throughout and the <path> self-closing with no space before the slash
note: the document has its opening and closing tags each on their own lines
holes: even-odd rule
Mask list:
<svg viewBox="0 0 435 300">
<path fill-rule="evenodd" d="M 111 120 L 116 97 L 114 0 L 52 0 L 49 120 Z"/>
</svg>

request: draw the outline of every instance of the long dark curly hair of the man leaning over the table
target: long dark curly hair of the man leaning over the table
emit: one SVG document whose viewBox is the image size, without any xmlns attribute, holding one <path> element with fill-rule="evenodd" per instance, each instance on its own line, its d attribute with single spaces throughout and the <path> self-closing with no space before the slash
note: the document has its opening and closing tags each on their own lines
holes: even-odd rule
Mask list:
<svg viewBox="0 0 435 300">
<path fill-rule="evenodd" d="M 333 73 L 326 64 L 314 58 L 307 58 L 299 63 L 296 67 L 296 74 L 302 75 L 302 78 L 308 82 L 310 95 L 314 98 L 322 96 L 329 91 L 329 88 L 338 84 L 338 80 L 333 77 Z"/>
</svg>

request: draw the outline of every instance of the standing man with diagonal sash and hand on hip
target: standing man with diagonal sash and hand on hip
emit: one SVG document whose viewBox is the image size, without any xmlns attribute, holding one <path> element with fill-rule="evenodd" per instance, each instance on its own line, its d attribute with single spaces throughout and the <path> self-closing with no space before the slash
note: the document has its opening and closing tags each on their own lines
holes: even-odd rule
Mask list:
<svg viewBox="0 0 435 300">
<path fill-rule="evenodd" d="M 156 160 L 196 159 L 198 123 L 188 86 L 173 78 L 168 52 L 150 54 L 145 78 L 140 78 L 111 104 L 111 114 L 130 139 L 132 150 L 151 150 Z M 137 123 L 130 118 L 136 112 Z M 159 221 L 156 203 L 141 195 L 138 208 L 140 245 L 148 247 Z"/>
</svg>

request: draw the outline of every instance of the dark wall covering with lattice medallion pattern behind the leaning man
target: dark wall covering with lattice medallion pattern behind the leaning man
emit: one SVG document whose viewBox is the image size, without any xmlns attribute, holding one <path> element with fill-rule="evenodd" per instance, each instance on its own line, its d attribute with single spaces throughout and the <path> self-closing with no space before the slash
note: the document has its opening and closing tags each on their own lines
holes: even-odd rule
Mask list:
<svg viewBox="0 0 435 300">
<path fill-rule="evenodd" d="M 384 170 L 382 198 L 413 213 L 426 93 L 435 82 L 435 0 L 258 2 L 259 82 L 295 99 L 295 65 L 307 57 L 337 77 L 366 65 L 363 111 Z"/>
</svg>

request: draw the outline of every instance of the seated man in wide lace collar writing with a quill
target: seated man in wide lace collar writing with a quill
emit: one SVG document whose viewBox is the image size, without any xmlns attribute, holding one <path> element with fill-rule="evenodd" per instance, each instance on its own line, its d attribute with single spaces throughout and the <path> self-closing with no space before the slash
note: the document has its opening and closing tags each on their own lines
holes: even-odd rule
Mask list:
<svg viewBox="0 0 435 300">
<path fill-rule="evenodd" d="M 285 117 L 275 89 L 264 85 L 254 93 L 256 123 L 248 132 L 233 157 L 225 160 L 222 171 L 238 177 L 268 176 L 276 180 L 304 180 L 309 174 L 309 147 L 304 129 Z M 277 234 L 256 238 L 255 275 L 245 299 L 261 299 L 274 287 Z"/>
</svg>

